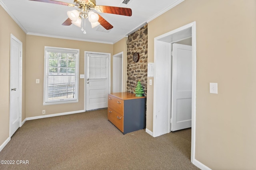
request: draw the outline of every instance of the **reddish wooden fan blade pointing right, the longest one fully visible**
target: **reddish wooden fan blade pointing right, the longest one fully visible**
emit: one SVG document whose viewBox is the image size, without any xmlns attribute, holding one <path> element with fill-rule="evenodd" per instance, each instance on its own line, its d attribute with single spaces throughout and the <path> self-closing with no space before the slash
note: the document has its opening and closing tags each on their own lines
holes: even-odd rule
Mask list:
<svg viewBox="0 0 256 170">
<path fill-rule="evenodd" d="M 114 7 L 114 6 L 95 6 L 95 10 L 98 12 L 108 13 L 108 14 L 117 14 L 122 16 L 132 16 L 132 9 Z"/>
</svg>

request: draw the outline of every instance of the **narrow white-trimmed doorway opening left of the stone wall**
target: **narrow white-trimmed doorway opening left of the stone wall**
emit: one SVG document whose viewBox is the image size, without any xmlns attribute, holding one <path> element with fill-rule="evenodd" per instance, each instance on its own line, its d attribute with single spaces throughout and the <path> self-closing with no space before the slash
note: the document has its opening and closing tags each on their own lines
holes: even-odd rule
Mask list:
<svg viewBox="0 0 256 170">
<path fill-rule="evenodd" d="M 123 91 L 123 54 L 113 55 L 113 93 Z"/>
</svg>

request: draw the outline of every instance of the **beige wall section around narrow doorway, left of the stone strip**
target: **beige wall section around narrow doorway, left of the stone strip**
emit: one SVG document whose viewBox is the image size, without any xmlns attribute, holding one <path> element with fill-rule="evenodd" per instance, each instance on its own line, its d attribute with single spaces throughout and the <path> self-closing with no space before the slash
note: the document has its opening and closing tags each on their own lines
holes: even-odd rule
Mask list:
<svg viewBox="0 0 256 170">
<path fill-rule="evenodd" d="M 124 52 L 124 58 L 123 58 L 123 92 L 127 92 L 127 39 L 128 37 L 124 37 L 123 39 L 121 39 L 120 41 L 118 41 L 117 43 L 114 44 L 114 55 L 120 53 L 120 52 Z M 111 61 L 113 61 L 113 57 L 111 59 Z M 113 62 L 112 62 L 113 65 Z M 113 75 L 113 66 L 111 66 L 111 75 Z M 111 77 L 111 80 L 113 80 L 113 78 Z M 112 87 L 111 87 L 111 91 L 112 91 Z"/>
</svg>

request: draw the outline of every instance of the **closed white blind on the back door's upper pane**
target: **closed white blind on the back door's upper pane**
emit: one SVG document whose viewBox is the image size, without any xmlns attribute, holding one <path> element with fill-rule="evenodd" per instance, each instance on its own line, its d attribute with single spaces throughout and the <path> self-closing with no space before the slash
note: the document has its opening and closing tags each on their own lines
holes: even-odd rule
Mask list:
<svg viewBox="0 0 256 170">
<path fill-rule="evenodd" d="M 89 78 L 107 78 L 107 57 L 89 56 Z"/>
</svg>

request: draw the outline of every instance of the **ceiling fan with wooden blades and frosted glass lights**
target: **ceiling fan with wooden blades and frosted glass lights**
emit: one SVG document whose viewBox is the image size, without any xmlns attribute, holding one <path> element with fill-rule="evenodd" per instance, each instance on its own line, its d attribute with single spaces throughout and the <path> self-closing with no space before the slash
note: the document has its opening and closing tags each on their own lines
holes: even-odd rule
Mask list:
<svg viewBox="0 0 256 170">
<path fill-rule="evenodd" d="M 82 27 L 82 31 L 85 32 L 85 19 L 88 18 L 92 27 L 97 25 L 102 25 L 105 29 L 112 29 L 113 26 L 106 21 L 102 16 L 93 12 L 108 13 L 108 14 L 117 14 L 122 16 L 132 16 L 132 10 L 130 8 L 114 7 L 114 6 L 96 6 L 96 0 L 74 0 L 74 4 L 67 2 L 60 2 L 56 0 L 32 0 L 38 2 L 46 2 L 51 4 L 59 4 L 71 7 L 77 7 L 78 10 L 68 11 L 68 19 L 62 23 L 62 25 L 71 25 L 72 23 L 78 27 Z"/>
</svg>

